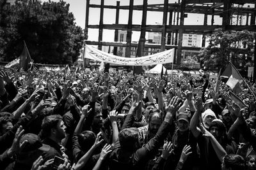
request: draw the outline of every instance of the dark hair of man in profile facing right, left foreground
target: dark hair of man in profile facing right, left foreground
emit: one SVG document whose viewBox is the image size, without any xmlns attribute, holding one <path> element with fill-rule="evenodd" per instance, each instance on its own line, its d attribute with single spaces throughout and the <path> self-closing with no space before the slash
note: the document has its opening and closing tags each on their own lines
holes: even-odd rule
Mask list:
<svg viewBox="0 0 256 170">
<path fill-rule="evenodd" d="M 50 115 L 45 117 L 42 122 L 41 139 L 51 135 L 51 129 L 56 127 L 62 120 L 61 115 Z"/>
</svg>

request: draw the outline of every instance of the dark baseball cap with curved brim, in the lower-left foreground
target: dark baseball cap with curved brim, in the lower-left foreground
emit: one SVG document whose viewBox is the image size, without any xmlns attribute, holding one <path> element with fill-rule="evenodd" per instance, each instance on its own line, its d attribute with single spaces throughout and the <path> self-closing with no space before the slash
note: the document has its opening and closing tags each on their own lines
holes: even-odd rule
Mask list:
<svg viewBox="0 0 256 170">
<path fill-rule="evenodd" d="M 23 143 L 24 141 L 28 141 L 24 148 L 22 148 L 21 152 L 30 152 L 33 150 L 42 150 L 42 151 L 49 151 L 51 149 L 51 146 L 45 145 L 42 143 L 41 139 L 36 134 L 25 134 L 20 139 L 20 143 Z"/>
</svg>

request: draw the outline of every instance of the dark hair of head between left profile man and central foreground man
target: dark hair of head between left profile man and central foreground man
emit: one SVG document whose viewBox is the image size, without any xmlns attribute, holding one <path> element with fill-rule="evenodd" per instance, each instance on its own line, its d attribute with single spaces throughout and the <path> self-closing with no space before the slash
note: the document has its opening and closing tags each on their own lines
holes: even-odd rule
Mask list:
<svg viewBox="0 0 256 170">
<path fill-rule="evenodd" d="M 77 134 L 77 139 L 83 152 L 87 152 L 95 142 L 96 135 L 92 131 L 83 131 L 81 134 Z"/>
</svg>

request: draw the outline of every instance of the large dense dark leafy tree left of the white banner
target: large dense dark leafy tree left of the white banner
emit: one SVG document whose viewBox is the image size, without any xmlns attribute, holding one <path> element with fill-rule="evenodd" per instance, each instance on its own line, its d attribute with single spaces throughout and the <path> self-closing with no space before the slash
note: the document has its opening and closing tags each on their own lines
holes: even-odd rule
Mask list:
<svg viewBox="0 0 256 170">
<path fill-rule="evenodd" d="M 6 61 L 19 57 L 23 40 L 36 63 L 71 64 L 80 54 L 83 30 L 64 1 L 5 4 L 0 18 L 0 56 Z"/>
</svg>

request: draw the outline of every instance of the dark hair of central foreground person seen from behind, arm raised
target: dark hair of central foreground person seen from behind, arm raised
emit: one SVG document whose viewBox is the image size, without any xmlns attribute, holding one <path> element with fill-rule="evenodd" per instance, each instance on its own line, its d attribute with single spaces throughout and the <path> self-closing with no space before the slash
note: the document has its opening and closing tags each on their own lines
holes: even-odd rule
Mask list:
<svg viewBox="0 0 256 170">
<path fill-rule="evenodd" d="M 123 129 L 118 137 L 122 149 L 135 152 L 140 148 L 139 130 L 136 127 Z"/>
</svg>

